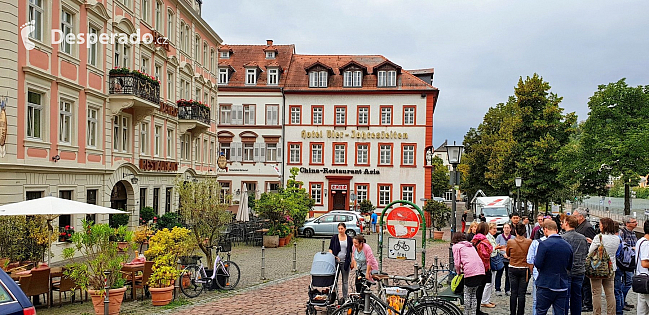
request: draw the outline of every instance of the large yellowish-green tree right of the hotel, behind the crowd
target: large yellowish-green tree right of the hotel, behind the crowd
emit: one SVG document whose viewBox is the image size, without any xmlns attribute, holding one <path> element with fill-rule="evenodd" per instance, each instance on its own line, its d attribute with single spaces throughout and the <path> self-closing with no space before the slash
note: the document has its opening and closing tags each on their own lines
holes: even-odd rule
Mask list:
<svg viewBox="0 0 649 315">
<path fill-rule="evenodd" d="M 555 200 L 564 189 L 558 152 L 576 121 L 574 113 L 563 114 L 560 102 L 539 75 L 519 78 L 514 95 L 490 108 L 478 128 L 466 134 L 461 187 L 468 193 L 481 189 L 486 195 L 509 195 L 520 176 L 521 198 L 535 205 Z"/>
</svg>

